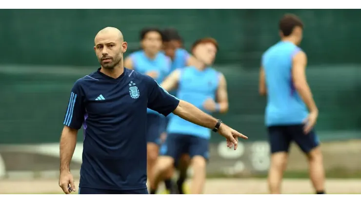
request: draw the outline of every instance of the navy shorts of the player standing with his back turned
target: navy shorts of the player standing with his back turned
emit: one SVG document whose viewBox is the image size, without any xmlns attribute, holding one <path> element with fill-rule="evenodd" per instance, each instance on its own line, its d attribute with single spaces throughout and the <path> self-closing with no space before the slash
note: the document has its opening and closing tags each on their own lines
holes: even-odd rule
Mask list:
<svg viewBox="0 0 361 203">
<path fill-rule="evenodd" d="M 303 124 L 275 125 L 268 127 L 268 140 L 271 153 L 288 152 L 291 142 L 296 142 L 304 153 L 309 153 L 320 145 L 320 140 L 314 130 L 308 134 L 303 132 Z"/>
</svg>

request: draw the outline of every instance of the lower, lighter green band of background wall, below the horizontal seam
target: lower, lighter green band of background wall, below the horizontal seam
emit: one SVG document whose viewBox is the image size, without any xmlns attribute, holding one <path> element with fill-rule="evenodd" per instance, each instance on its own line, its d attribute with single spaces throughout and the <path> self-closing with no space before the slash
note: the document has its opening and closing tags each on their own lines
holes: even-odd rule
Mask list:
<svg viewBox="0 0 361 203">
<path fill-rule="evenodd" d="M 56 142 L 73 83 L 93 70 L 58 67 L 61 70 L 56 72 L 49 71 L 55 67 L 44 67 L 25 73 L 26 68 L 12 67 L 0 74 L 0 143 Z M 230 101 L 230 110 L 221 119 L 251 141 L 266 139 L 265 98 L 258 95 L 258 71 L 238 66 L 218 69 L 228 80 Z M 361 66 L 310 66 L 307 76 L 320 108 L 317 130 L 321 138 L 361 138 Z M 217 140 L 220 138 L 214 136 Z"/>
</svg>

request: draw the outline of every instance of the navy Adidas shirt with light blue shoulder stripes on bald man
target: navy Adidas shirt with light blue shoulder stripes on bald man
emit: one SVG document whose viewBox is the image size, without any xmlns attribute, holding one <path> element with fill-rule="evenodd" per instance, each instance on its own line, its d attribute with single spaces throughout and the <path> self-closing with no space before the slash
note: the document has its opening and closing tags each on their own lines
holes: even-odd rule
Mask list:
<svg viewBox="0 0 361 203">
<path fill-rule="evenodd" d="M 147 108 L 167 116 L 178 104 L 154 79 L 127 68 L 117 79 L 99 68 L 76 81 L 64 125 L 84 127 L 79 186 L 145 189 Z"/>
</svg>

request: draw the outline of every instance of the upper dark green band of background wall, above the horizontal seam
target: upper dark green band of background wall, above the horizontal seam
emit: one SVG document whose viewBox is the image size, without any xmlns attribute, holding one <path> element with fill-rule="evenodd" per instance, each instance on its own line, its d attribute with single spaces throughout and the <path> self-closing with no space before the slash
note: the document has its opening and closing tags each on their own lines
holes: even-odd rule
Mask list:
<svg viewBox="0 0 361 203">
<path fill-rule="evenodd" d="M 180 30 L 186 47 L 212 36 L 221 46 L 217 63 L 259 64 L 261 53 L 278 40 L 278 20 L 287 12 L 305 24 L 301 47 L 310 63 L 361 63 L 358 10 L 1 10 L 0 62 L 95 65 L 94 37 L 106 26 L 121 29 L 130 51 L 138 48 L 145 26 Z"/>
</svg>

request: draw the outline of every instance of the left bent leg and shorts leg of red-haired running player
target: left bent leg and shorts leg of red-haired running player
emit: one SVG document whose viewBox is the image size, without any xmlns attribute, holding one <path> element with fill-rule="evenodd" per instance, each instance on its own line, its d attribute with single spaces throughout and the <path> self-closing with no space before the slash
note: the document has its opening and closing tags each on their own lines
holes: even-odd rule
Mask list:
<svg viewBox="0 0 361 203">
<path fill-rule="evenodd" d="M 174 162 L 179 159 L 181 149 L 184 145 L 184 136 L 179 134 L 169 134 L 161 149 L 161 155 L 158 157 L 157 163 L 154 167 L 153 180 L 150 182 L 151 194 L 155 194 L 158 189 L 158 184 L 167 175 L 169 168 L 174 167 Z"/>
</svg>

